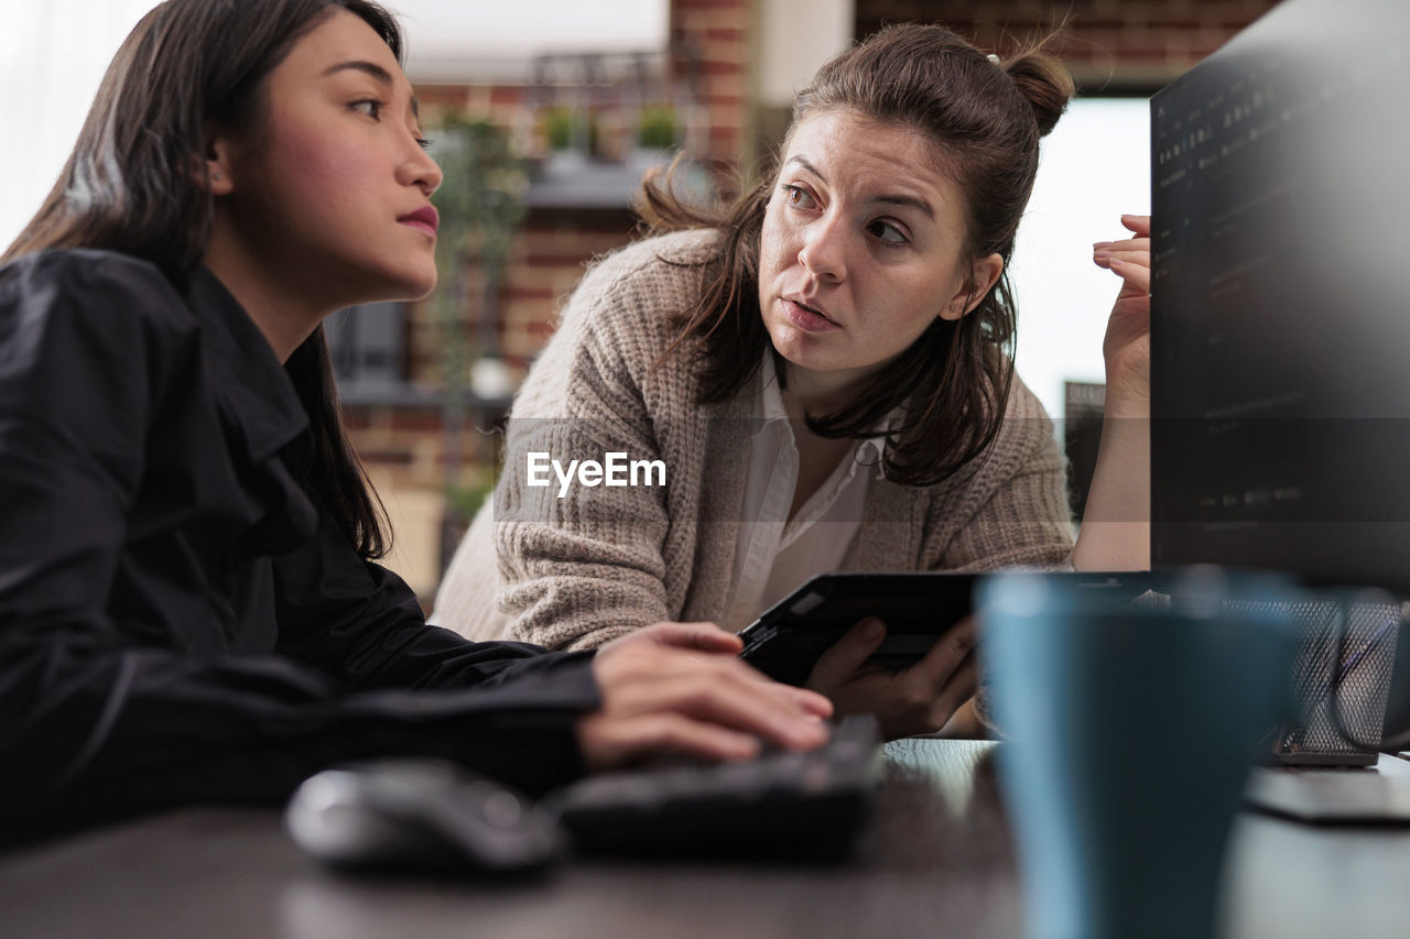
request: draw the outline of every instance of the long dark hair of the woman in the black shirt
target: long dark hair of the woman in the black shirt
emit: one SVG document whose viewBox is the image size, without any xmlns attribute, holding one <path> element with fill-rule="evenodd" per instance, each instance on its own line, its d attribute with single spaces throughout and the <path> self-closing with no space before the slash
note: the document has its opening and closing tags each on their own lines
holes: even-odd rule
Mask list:
<svg viewBox="0 0 1410 939">
<path fill-rule="evenodd" d="M 265 78 L 334 10 L 358 16 L 402 61 L 396 20 L 369 0 L 168 0 L 117 51 L 58 182 L 0 264 L 47 248 L 107 248 L 173 281 L 200 262 L 214 199 L 202 161 L 214 128 L 251 140 L 268 113 Z M 285 364 L 309 413 L 309 488 L 364 557 L 391 547 L 338 412 L 323 327 Z"/>
</svg>

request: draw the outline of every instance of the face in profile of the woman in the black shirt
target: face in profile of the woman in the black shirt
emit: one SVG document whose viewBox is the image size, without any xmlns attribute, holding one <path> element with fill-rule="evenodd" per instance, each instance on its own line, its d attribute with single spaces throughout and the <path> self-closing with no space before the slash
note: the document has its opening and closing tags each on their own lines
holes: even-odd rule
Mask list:
<svg viewBox="0 0 1410 939">
<path fill-rule="evenodd" d="M 212 183 L 250 272 L 330 309 L 430 292 L 441 173 L 386 42 L 334 10 L 269 73 L 264 106 Z"/>
</svg>

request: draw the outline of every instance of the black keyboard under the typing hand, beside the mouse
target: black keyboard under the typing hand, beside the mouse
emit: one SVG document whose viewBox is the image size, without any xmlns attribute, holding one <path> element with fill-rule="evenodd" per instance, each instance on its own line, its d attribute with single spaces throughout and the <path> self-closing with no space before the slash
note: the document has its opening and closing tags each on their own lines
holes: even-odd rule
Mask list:
<svg viewBox="0 0 1410 939">
<path fill-rule="evenodd" d="M 839 860 L 880 782 L 877 723 L 860 715 L 808 753 L 594 775 L 541 806 L 582 854 Z"/>
</svg>

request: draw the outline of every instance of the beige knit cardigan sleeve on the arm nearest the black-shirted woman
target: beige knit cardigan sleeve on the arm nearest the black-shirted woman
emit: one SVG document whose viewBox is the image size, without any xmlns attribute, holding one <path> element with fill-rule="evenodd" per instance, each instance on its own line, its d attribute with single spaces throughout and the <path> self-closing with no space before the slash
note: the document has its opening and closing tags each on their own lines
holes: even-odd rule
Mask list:
<svg viewBox="0 0 1410 939">
<path fill-rule="evenodd" d="M 649 376 L 663 381 L 651 367 L 668 344 L 664 313 L 688 295 L 682 282 L 691 278 L 663 264 L 651 243 L 611 257 L 574 292 L 525 381 L 494 501 L 508 637 L 591 649 L 670 618 L 663 546 L 671 479 L 654 485 L 670 474 L 657 427 L 671 419 L 666 402 L 689 393 L 657 392 Z M 546 461 L 564 470 L 574 460 L 605 464 L 609 454 L 661 468 L 639 475 L 637 485 L 564 482 L 557 470 L 541 470 Z M 454 584 L 447 589 L 457 592 Z"/>
</svg>

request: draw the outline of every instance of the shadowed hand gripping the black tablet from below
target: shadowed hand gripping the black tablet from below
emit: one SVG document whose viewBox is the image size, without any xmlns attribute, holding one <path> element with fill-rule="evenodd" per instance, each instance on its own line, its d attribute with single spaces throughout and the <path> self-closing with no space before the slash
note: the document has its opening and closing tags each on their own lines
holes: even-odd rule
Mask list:
<svg viewBox="0 0 1410 939">
<path fill-rule="evenodd" d="M 974 618 L 966 616 L 925 657 L 901 671 L 869 665 L 885 626 L 869 618 L 818 658 L 808 687 L 832 699 L 838 713 L 871 713 L 887 737 L 935 733 L 979 685 Z"/>
</svg>

